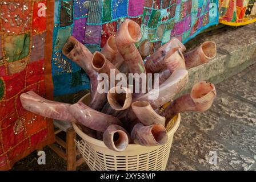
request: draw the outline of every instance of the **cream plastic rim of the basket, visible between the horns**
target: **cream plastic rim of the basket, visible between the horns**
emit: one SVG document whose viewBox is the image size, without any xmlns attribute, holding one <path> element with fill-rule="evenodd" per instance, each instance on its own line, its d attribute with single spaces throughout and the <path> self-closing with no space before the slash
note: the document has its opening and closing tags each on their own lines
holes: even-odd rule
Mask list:
<svg viewBox="0 0 256 182">
<path fill-rule="evenodd" d="M 173 135 L 177 131 L 180 122 L 181 122 L 181 114 L 178 113 L 177 119 L 174 123 L 174 126 L 172 127 L 172 129 L 170 131 L 167 132 L 168 138 L 170 138 L 171 135 Z M 79 135 L 79 137 L 81 137 L 86 142 L 93 143 L 94 145 L 99 146 L 99 147 L 107 148 L 102 140 L 98 140 L 96 138 L 90 137 L 89 135 L 86 135 L 85 133 L 83 133 L 82 130 L 79 129 L 79 127 L 75 123 L 72 123 L 72 125 L 75 130 L 75 133 L 77 133 Z M 132 143 L 132 144 L 129 144 L 128 147 L 130 149 L 133 149 L 133 148 L 135 149 L 137 147 L 142 147 L 142 146 L 139 144 Z M 148 146 L 148 147 L 151 147 L 151 146 Z M 153 147 L 155 147 L 155 146 L 153 146 Z"/>
</svg>

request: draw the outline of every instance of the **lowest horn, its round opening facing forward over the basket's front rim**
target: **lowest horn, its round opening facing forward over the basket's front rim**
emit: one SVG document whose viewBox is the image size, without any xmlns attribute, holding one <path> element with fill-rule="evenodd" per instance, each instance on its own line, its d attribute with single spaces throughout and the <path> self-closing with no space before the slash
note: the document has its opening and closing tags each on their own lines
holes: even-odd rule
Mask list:
<svg viewBox="0 0 256 182">
<path fill-rule="evenodd" d="M 103 134 L 103 142 L 110 150 L 125 151 L 129 144 L 129 133 L 123 127 L 110 125 Z"/>
</svg>

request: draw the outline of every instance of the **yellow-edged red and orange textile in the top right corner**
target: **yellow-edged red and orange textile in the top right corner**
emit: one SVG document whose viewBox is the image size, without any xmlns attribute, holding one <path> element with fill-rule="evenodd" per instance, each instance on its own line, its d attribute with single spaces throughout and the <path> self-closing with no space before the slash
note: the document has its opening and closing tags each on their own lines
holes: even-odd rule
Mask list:
<svg viewBox="0 0 256 182">
<path fill-rule="evenodd" d="M 241 26 L 256 22 L 256 0 L 219 0 L 219 23 Z"/>
</svg>

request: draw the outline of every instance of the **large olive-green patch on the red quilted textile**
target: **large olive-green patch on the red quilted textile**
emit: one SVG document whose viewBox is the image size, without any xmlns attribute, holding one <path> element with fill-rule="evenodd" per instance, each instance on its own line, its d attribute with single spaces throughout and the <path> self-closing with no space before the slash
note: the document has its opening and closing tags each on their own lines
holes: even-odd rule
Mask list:
<svg viewBox="0 0 256 182">
<path fill-rule="evenodd" d="M 29 55 L 30 35 L 8 35 L 4 38 L 3 49 L 5 51 L 5 57 L 9 58 L 8 63 L 21 60 Z"/>
</svg>

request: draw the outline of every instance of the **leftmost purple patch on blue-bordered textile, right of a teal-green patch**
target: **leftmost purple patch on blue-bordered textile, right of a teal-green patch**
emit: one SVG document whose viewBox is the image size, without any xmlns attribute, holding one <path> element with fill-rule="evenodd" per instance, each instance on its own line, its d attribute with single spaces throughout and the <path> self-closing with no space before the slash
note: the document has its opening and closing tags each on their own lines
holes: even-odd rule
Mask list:
<svg viewBox="0 0 256 182">
<path fill-rule="evenodd" d="M 85 43 L 85 27 L 86 27 L 87 18 L 75 19 L 74 28 L 73 28 L 73 36 L 79 42 Z"/>
</svg>

